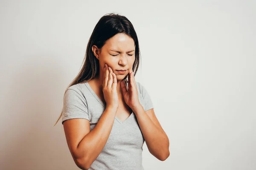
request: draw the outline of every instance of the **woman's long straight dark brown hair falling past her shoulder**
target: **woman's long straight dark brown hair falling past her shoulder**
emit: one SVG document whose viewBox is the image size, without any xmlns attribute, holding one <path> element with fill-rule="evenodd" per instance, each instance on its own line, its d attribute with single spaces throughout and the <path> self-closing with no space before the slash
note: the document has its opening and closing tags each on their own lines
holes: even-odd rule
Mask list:
<svg viewBox="0 0 256 170">
<path fill-rule="evenodd" d="M 91 34 L 89 42 L 87 44 L 86 54 L 83 61 L 84 64 L 79 71 L 79 74 L 76 76 L 75 79 L 73 79 L 67 89 L 72 85 L 76 85 L 81 82 L 88 82 L 99 74 L 99 60 L 96 59 L 96 57 L 94 56 L 92 46 L 96 45 L 99 49 L 101 49 L 109 38 L 113 37 L 118 33 L 127 34 L 134 40 L 135 61 L 132 66 L 132 70 L 134 71 L 134 75 L 136 75 L 140 63 L 140 48 L 137 34 L 134 30 L 132 23 L 125 16 L 114 13 L 105 14 L 103 17 L 100 18 L 99 22 L 93 29 L 93 33 Z M 127 79 L 127 77 L 128 75 L 126 75 L 124 79 Z M 67 92 L 67 89 L 65 93 Z M 59 116 L 55 125 L 61 118 L 61 115 Z"/>
</svg>

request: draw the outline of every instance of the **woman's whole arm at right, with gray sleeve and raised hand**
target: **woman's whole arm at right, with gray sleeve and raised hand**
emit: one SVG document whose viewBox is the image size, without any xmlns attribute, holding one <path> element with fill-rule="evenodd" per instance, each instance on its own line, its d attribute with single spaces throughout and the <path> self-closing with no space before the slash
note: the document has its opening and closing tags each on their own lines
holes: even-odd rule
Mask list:
<svg viewBox="0 0 256 170">
<path fill-rule="evenodd" d="M 164 161 L 170 155 L 169 139 L 154 114 L 153 103 L 147 90 L 143 85 L 135 81 L 132 69 L 130 70 L 128 78 L 128 89 L 126 88 L 125 81 L 121 82 L 125 102 L 134 111 L 137 117 L 140 130 L 143 133 L 149 152 L 157 159 Z M 146 112 L 140 104 L 137 85 L 142 94 Z"/>
</svg>

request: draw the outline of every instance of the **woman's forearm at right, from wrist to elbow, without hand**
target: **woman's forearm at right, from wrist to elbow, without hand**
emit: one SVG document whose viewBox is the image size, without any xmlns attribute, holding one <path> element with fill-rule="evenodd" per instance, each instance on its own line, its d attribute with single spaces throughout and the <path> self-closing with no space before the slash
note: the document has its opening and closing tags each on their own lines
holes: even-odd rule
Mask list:
<svg viewBox="0 0 256 170">
<path fill-rule="evenodd" d="M 134 113 L 148 146 L 149 152 L 163 161 L 169 156 L 169 139 L 166 133 L 150 119 L 142 105 L 134 108 Z"/>
</svg>

